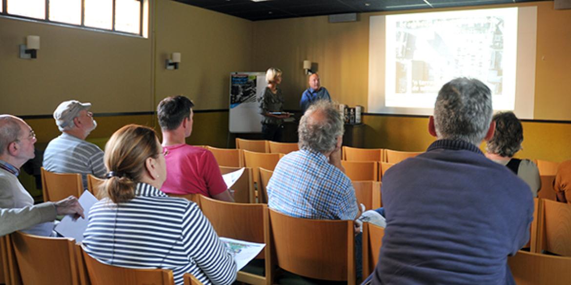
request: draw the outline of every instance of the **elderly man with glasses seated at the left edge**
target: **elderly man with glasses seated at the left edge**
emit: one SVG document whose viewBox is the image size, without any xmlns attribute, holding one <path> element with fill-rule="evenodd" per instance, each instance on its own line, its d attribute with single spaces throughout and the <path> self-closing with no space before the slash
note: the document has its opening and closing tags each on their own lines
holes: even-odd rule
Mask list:
<svg viewBox="0 0 571 285">
<path fill-rule="evenodd" d="M 34 158 L 35 133 L 22 119 L 0 115 L 0 235 L 14 230 L 51 236 L 56 214 L 83 215 L 75 197 L 34 206 L 34 199 L 18 181 L 22 165 Z"/>
</svg>

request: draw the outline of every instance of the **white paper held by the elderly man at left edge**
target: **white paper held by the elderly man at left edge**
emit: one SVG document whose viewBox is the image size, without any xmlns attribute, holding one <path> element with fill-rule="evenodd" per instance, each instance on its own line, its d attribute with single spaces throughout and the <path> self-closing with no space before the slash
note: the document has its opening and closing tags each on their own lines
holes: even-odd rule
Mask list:
<svg viewBox="0 0 571 285">
<path fill-rule="evenodd" d="M 73 220 L 71 215 L 66 215 L 63 217 L 62 221 L 55 226 L 55 231 L 63 235 L 66 238 L 74 238 L 75 242 L 79 243 L 83 241 L 83 232 L 87 229 L 87 221 L 89 219 L 89 210 L 97 198 L 93 196 L 89 191 L 85 190 L 81 197 L 79 197 L 79 203 L 83 207 L 83 214 L 85 214 L 85 219 L 79 217 L 77 220 Z"/>
</svg>

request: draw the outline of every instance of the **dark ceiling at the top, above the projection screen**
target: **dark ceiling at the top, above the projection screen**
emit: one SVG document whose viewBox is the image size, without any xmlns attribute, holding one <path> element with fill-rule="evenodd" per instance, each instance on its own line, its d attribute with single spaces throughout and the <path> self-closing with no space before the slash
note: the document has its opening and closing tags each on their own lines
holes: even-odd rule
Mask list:
<svg viewBox="0 0 571 285">
<path fill-rule="evenodd" d="M 533 2 L 537 0 L 175 0 L 220 13 L 261 21 L 343 13 Z M 259 1 L 259 2 L 254 2 Z M 548 0 L 539 0 L 548 1 Z"/>
</svg>

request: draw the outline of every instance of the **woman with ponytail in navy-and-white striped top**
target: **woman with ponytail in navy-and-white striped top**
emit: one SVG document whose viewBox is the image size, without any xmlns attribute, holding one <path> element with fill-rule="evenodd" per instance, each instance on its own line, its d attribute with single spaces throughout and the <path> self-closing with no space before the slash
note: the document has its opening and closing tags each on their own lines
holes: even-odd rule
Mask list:
<svg viewBox="0 0 571 285">
<path fill-rule="evenodd" d="M 85 251 L 114 266 L 172 270 L 175 284 L 192 273 L 204 284 L 231 284 L 236 263 L 199 207 L 168 197 L 155 131 L 126 125 L 105 146 L 107 180 L 91 207 Z"/>
</svg>

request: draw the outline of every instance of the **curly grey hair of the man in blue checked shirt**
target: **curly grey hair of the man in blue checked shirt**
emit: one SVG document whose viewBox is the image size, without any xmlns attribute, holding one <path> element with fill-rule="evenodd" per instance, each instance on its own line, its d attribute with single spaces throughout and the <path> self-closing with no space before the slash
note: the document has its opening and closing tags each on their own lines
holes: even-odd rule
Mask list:
<svg viewBox="0 0 571 285">
<path fill-rule="evenodd" d="M 300 149 L 331 152 L 337 144 L 336 138 L 342 136 L 343 132 L 343 119 L 336 105 L 328 100 L 318 100 L 299 121 L 298 145 Z"/>
</svg>

